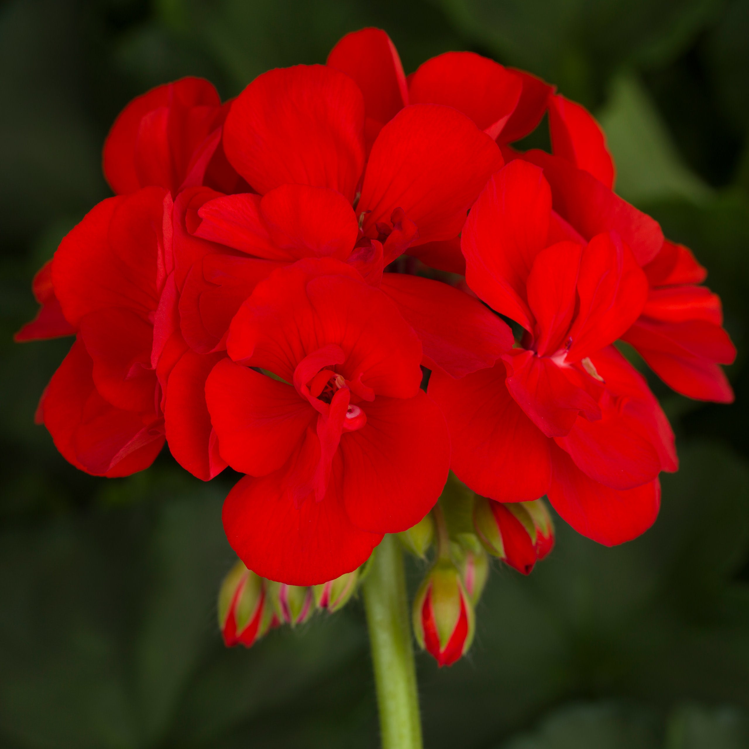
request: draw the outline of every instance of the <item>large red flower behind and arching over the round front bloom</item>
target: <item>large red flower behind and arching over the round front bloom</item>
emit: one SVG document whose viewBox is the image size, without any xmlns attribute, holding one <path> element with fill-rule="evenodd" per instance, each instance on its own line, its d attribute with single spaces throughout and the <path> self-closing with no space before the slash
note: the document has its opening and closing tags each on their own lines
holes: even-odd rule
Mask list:
<svg viewBox="0 0 749 749">
<path fill-rule="evenodd" d="M 297 67 L 260 76 L 234 103 L 225 139 L 235 165 L 264 195 L 193 187 L 175 201 L 173 285 L 165 287 L 172 300 L 164 305 L 173 320 L 154 357 L 172 454 L 195 476 L 209 479 L 223 467 L 201 405 L 204 379 L 224 356 L 241 303 L 281 265 L 322 256 L 357 268 L 419 334 L 425 364 L 452 375 L 491 366 L 512 345 L 506 325 L 467 294 L 383 275 L 408 243 L 459 231 L 501 163 L 496 145 L 452 109 L 409 107 L 383 129 L 362 175 L 362 110 L 360 91 L 336 71 Z M 258 119 L 257 112 L 271 114 Z M 476 172 L 458 168 L 471 161 Z M 343 166 L 336 171 L 336 164 Z M 353 190 L 362 180 L 355 211 Z"/>
</svg>

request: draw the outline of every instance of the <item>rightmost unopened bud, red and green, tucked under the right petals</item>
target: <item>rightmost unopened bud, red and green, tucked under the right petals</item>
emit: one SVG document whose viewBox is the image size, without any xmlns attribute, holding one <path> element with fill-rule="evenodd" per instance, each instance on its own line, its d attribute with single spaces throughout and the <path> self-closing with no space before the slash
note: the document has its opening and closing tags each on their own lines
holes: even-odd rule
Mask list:
<svg viewBox="0 0 749 749">
<path fill-rule="evenodd" d="M 523 574 L 554 546 L 554 525 L 542 500 L 501 503 L 476 497 L 473 524 L 486 551 Z"/>
</svg>

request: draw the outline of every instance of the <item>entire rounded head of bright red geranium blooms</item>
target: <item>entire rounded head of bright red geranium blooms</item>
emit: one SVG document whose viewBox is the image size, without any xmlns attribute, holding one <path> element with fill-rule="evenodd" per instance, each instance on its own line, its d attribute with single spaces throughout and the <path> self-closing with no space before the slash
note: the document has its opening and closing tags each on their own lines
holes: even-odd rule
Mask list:
<svg viewBox="0 0 749 749">
<path fill-rule="evenodd" d="M 509 145 L 546 113 L 552 154 Z M 543 495 L 583 535 L 625 542 L 677 461 L 615 342 L 677 392 L 733 398 L 705 270 L 613 192 L 591 115 L 530 73 L 449 52 L 406 77 L 369 28 L 224 104 L 201 79 L 155 88 L 115 121 L 103 166 L 115 197 L 37 274 L 42 308 L 16 336 L 76 336 L 37 417 L 97 476 L 148 467 L 165 440 L 200 479 L 245 474 L 223 519 L 255 576 L 356 570 L 425 518 L 449 469 L 487 498 L 488 551 L 521 571 L 553 538 Z M 440 662 L 472 631 L 470 554 L 462 582 L 440 568 L 423 591 Z M 227 640 L 270 627 L 270 583 L 242 575 Z M 434 619 L 437 589 L 460 595 L 462 643 Z"/>
</svg>

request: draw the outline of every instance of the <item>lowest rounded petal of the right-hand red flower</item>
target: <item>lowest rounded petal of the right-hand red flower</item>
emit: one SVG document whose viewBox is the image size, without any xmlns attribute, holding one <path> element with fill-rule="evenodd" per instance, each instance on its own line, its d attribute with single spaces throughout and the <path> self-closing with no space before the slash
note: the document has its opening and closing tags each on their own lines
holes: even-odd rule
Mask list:
<svg viewBox="0 0 749 749">
<path fill-rule="evenodd" d="M 617 491 L 589 479 L 569 455 L 554 446 L 549 501 L 577 533 L 605 546 L 637 538 L 655 522 L 661 506 L 658 479 Z"/>
</svg>

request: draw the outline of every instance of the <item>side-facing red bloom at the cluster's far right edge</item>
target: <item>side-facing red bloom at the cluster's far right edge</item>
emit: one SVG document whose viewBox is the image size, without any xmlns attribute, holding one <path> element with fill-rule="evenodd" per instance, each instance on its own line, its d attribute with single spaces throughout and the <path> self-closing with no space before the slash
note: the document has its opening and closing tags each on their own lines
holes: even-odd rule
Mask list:
<svg viewBox="0 0 749 749">
<path fill-rule="evenodd" d="M 676 392 L 731 403 L 733 389 L 719 365 L 733 364 L 736 348 L 721 327 L 720 298 L 699 285 L 707 271 L 685 246 L 669 241 L 643 270 L 648 300 L 622 339 Z"/>
</svg>

